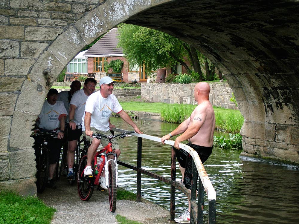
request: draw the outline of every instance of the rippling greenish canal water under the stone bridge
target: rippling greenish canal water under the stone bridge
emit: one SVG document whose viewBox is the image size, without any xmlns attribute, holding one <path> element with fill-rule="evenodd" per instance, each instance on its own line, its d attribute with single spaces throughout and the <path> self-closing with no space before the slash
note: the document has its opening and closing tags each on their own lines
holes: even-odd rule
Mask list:
<svg viewBox="0 0 299 224">
<path fill-rule="evenodd" d="M 132 130 L 120 118 L 111 118 L 117 128 Z M 144 134 L 162 137 L 177 124 L 154 120 L 135 120 Z M 221 133 L 215 133 L 221 135 Z M 137 164 L 137 137 L 119 140 L 122 153 L 119 160 Z M 214 148 L 204 163 L 216 191 L 217 223 L 298 224 L 299 171 L 287 166 L 240 158 L 241 151 Z M 142 167 L 170 178 L 171 148 L 159 142 L 142 140 Z M 181 178 L 177 164 L 177 180 Z M 136 193 L 136 171 L 119 166 L 119 185 Z M 141 196 L 170 209 L 170 185 L 142 174 Z M 204 220 L 207 223 L 207 196 Z M 176 191 L 176 214 L 187 209 L 187 197 Z"/>
</svg>

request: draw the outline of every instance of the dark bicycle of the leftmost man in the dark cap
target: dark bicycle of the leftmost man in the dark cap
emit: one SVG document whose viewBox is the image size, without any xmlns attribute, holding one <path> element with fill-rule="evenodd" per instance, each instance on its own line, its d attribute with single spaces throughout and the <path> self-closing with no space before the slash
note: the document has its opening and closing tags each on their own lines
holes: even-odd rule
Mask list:
<svg viewBox="0 0 299 224">
<path fill-rule="evenodd" d="M 38 150 L 35 150 L 36 161 L 36 188 L 37 192 L 42 193 L 45 190 L 50 166 L 50 156 L 48 141 L 57 136 L 56 132 L 36 132 L 35 136 L 41 136 L 42 143 Z"/>
</svg>

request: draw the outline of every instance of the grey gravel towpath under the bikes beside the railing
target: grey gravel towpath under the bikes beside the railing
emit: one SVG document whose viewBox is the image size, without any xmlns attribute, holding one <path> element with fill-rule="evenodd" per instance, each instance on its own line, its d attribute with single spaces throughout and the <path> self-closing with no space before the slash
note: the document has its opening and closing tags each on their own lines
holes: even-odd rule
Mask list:
<svg viewBox="0 0 299 224">
<path fill-rule="evenodd" d="M 77 185 L 69 185 L 64 178 L 56 182 L 57 189 L 46 188 L 42 194 L 38 194 L 46 205 L 57 209 L 51 224 L 118 224 L 115 219 L 117 214 L 143 224 L 174 223 L 169 221 L 169 211 L 147 201 L 119 200 L 115 213 L 112 213 L 107 191 L 95 189 L 91 199 L 84 202 L 78 196 Z"/>
</svg>

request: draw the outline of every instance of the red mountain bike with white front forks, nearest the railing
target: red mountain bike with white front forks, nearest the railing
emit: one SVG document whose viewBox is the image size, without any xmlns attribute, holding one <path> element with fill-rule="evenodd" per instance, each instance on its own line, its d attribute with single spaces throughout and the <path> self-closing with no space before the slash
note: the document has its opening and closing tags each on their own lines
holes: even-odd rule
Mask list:
<svg viewBox="0 0 299 224">
<path fill-rule="evenodd" d="M 88 201 L 91 198 L 91 195 L 94 191 L 94 185 L 98 185 L 97 190 L 101 190 L 100 187 L 100 177 L 105 168 L 105 177 L 106 177 L 106 187 L 109 191 L 109 205 L 110 211 L 115 212 L 116 209 L 116 194 L 118 187 L 118 164 L 117 164 L 117 156 L 112 152 L 112 139 L 120 139 L 124 138 L 127 134 L 132 134 L 134 131 L 123 132 L 117 135 L 101 135 L 95 134 L 93 137 L 97 139 L 108 138 L 108 145 L 104 148 L 100 149 L 96 152 L 92 164 L 93 167 L 93 175 L 92 176 L 84 176 L 84 169 L 87 164 L 87 155 L 83 155 L 79 162 L 78 174 L 77 174 L 77 186 L 78 186 L 78 194 L 81 200 Z M 110 155 L 114 156 L 114 159 L 107 159 Z M 97 158 L 102 157 L 103 162 L 100 166 L 97 166 Z"/>
</svg>

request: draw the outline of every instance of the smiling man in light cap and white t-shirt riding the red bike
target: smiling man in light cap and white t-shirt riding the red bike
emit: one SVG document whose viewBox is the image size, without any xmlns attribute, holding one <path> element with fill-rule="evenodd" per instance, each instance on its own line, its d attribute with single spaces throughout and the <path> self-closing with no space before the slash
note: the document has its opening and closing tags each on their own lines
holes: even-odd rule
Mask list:
<svg viewBox="0 0 299 224">
<path fill-rule="evenodd" d="M 82 131 L 83 135 L 91 142 L 87 153 L 87 164 L 84 169 L 84 175 L 92 176 L 91 162 L 97 151 L 97 147 L 100 143 L 105 147 L 108 145 L 108 139 L 97 139 L 93 138 L 94 133 L 110 135 L 110 128 L 115 127 L 109 121 L 109 117 L 112 112 L 118 113 L 118 115 L 129 125 L 134 128 L 134 131 L 138 134 L 142 134 L 137 125 L 132 121 L 129 115 L 123 111 L 116 97 L 112 94 L 113 86 L 115 81 L 113 81 L 109 76 L 105 76 L 100 80 L 100 91 L 91 94 L 85 105 L 85 115 L 83 116 Z M 117 156 L 120 155 L 120 149 L 117 142 L 113 142 L 115 148 L 115 153 Z M 105 177 L 100 178 L 101 186 L 106 188 Z"/>
</svg>

